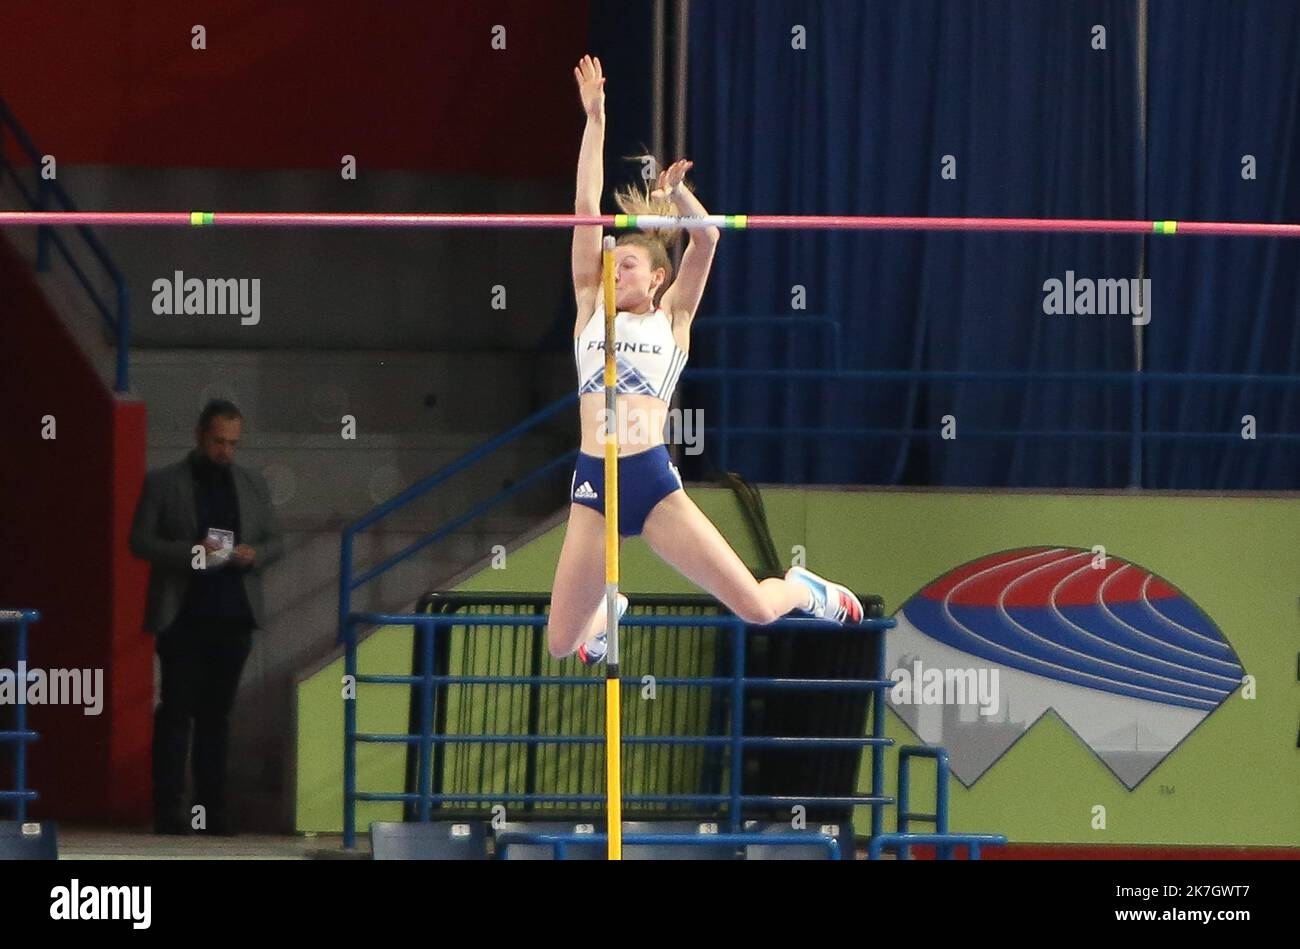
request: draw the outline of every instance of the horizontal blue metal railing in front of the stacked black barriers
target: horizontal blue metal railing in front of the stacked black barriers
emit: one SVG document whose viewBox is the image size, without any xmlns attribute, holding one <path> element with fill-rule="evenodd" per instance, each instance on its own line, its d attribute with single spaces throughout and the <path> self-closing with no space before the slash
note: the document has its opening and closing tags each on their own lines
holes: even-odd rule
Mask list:
<svg viewBox="0 0 1300 949">
<path fill-rule="evenodd" d="M 344 701 L 343 711 L 343 845 L 355 846 L 356 842 L 356 803 L 359 801 L 390 801 L 413 802 L 419 805 L 419 819 L 429 820 L 434 805 L 442 803 L 602 803 L 603 794 L 541 794 L 528 792 L 507 792 L 497 794 L 482 793 L 434 793 L 433 784 L 433 749 L 436 745 L 446 744 L 511 744 L 511 745 L 563 745 L 563 744 L 598 744 L 603 742 L 602 736 L 545 736 L 545 734 L 434 734 L 433 733 L 433 692 L 436 685 L 469 685 L 482 684 L 482 679 L 491 679 L 510 685 L 546 684 L 556 688 L 592 688 L 603 685 L 602 679 L 581 677 L 537 677 L 537 676 L 436 676 L 433 673 L 432 656 L 436 654 L 436 637 L 439 628 L 451 627 L 502 627 L 507 630 L 519 632 L 545 627 L 546 616 L 524 614 L 351 614 L 344 623 L 344 673 L 347 681 L 356 685 L 407 685 L 416 688 L 419 696 L 419 734 L 372 734 L 360 733 L 356 728 L 356 689 L 351 690 L 351 697 Z M 420 675 L 360 675 L 358 672 L 358 637 L 359 625 L 411 625 L 420 630 L 424 642 L 421 655 Z M 827 632 L 842 630 L 844 627 L 811 619 L 781 619 L 766 627 L 751 627 L 744 620 L 731 615 L 718 616 L 668 616 L 668 615 L 625 615 L 620 625 L 628 628 L 655 628 L 680 629 L 684 627 L 699 628 L 701 625 L 716 627 L 731 637 L 732 675 L 727 677 L 682 677 L 658 679 L 659 686 L 677 688 L 703 688 L 708 685 L 724 685 L 731 689 L 731 728 L 727 734 L 707 736 L 625 736 L 625 745 L 711 745 L 723 746 L 729 750 L 729 780 L 725 793 L 698 794 L 625 794 L 625 803 L 630 805 L 668 805 L 668 803 L 697 803 L 714 805 L 727 809 L 727 820 L 732 833 L 738 833 L 744 826 L 744 810 L 746 806 L 793 806 L 793 805 L 823 805 L 823 806 L 870 806 L 872 836 L 881 832 L 883 807 L 893 803 L 885 797 L 884 789 L 884 749 L 893 744 L 892 738 L 884 733 L 884 692 L 893 682 L 884 677 L 884 632 L 894 625 L 892 619 L 866 619 L 858 627 L 864 632 L 879 637 L 875 653 L 875 673 L 872 679 L 846 679 L 846 680 L 788 680 L 777 677 L 748 677 L 745 676 L 746 636 L 754 630 L 786 629 L 794 632 Z M 545 680 L 545 681 L 543 681 Z M 623 681 L 629 686 L 641 684 L 638 676 L 625 676 Z M 812 689 L 831 688 L 836 690 L 867 692 L 872 697 L 871 734 L 866 737 L 822 738 L 822 737 L 779 737 L 779 736 L 746 736 L 744 734 L 745 697 L 754 690 L 783 690 L 783 689 Z M 356 788 L 356 746 L 364 742 L 380 744 L 411 744 L 419 745 L 417 790 L 410 792 L 361 792 Z M 871 793 L 868 794 L 746 794 L 744 792 L 744 750 L 753 746 L 768 748 L 870 748 L 872 751 Z M 663 842 L 662 837 L 655 838 Z M 750 842 L 759 842 L 754 840 Z M 762 842 L 768 838 L 762 837 Z"/>
</svg>

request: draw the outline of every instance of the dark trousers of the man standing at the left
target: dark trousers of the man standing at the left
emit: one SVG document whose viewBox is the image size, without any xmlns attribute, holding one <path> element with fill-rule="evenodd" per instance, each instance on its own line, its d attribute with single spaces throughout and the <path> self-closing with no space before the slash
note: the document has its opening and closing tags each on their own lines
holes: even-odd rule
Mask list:
<svg viewBox="0 0 1300 949">
<path fill-rule="evenodd" d="M 159 637 L 162 697 L 153 712 L 155 824 L 190 824 L 183 796 L 191 722 L 194 803 L 205 809 L 208 829 L 230 823 L 230 708 L 251 649 L 252 629 L 243 623 L 178 620 Z"/>
</svg>

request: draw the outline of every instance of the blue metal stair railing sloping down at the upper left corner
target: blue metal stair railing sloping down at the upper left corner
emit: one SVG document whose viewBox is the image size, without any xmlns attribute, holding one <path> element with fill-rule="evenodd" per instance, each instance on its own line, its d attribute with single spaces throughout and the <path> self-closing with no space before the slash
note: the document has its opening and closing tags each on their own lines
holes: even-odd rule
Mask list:
<svg viewBox="0 0 1300 949">
<path fill-rule="evenodd" d="M 8 160 L 4 151 L 4 131 L 5 129 L 13 135 L 14 140 L 18 143 L 18 148 L 27 156 L 31 161 L 32 168 L 36 169 L 39 185 L 36 186 L 35 194 L 23 183 L 18 169 Z M 53 211 L 51 203 L 58 205 L 60 211 L 77 211 L 77 205 L 73 204 L 72 198 L 64 191 L 62 185 L 57 181 L 47 179 L 40 174 L 43 152 L 36 148 L 32 143 L 31 136 L 27 131 L 18 124 L 13 112 L 5 104 L 4 99 L 0 99 L 0 170 L 6 172 L 13 179 L 14 186 L 22 195 L 22 199 L 32 211 Z M 86 226 L 77 226 L 75 233 L 81 235 L 86 246 L 90 248 L 91 256 L 99 263 L 99 265 L 108 274 L 109 280 L 113 282 L 114 294 L 114 307 L 110 308 L 109 304 L 103 299 L 99 290 L 91 282 L 86 270 L 77 263 L 73 257 L 72 251 L 68 248 L 68 243 L 64 240 L 53 228 L 40 226 L 36 229 L 36 270 L 44 273 L 49 270 L 49 247 L 53 246 L 55 250 L 62 256 L 64 261 L 68 264 L 73 276 L 77 277 L 77 282 L 81 283 L 82 289 L 90 296 L 91 303 L 99 311 L 100 316 L 104 317 L 104 324 L 108 326 L 109 332 L 117 341 L 117 365 L 116 365 L 116 380 L 114 390 L 118 393 L 125 393 L 129 389 L 129 376 L 130 376 L 130 358 L 131 358 L 131 304 L 130 294 L 126 289 L 126 280 L 122 277 L 122 272 L 117 269 L 117 264 L 108 255 L 104 244 L 100 243 L 95 233 Z"/>
</svg>

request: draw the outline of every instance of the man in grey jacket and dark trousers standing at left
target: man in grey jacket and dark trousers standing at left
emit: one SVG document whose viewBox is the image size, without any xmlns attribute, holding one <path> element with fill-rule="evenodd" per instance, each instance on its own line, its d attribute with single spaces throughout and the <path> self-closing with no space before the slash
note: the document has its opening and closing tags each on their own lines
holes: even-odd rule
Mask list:
<svg viewBox="0 0 1300 949">
<path fill-rule="evenodd" d="M 131 525 L 131 552 L 148 560 L 144 628 L 157 638 L 161 702 L 153 715 L 153 829 L 237 833 L 226 796 L 230 710 L 263 624 L 261 573 L 283 552 L 260 474 L 234 464 L 243 419 L 209 402 L 194 451 L 152 471 Z M 194 722 L 194 805 L 183 806 Z"/>
</svg>

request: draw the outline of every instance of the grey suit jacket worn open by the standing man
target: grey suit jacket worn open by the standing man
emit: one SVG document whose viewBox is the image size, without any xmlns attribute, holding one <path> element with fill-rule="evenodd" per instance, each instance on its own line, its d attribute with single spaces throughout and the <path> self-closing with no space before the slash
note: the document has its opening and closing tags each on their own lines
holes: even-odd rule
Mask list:
<svg viewBox="0 0 1300 949">
<path fill-rule="evenodd" d="M 235 569 L 243 575 L 254 624 L 261 627 L 266 616 L 261 573 L 281 558 L 285 542 L 276 526 L 266 481 L 261 474 L 237 464 L 230 465 L 230 472 L 239 503 L 239 542 L 252 547 L 257 556 L 250 568 L 228 563 L 221 569 Z M 144 490 L 131 524 L 131 552 L 153 566 L 144 606 L 144 629 L 150 633 L 164 632 L 181 612 L 192 576 L 198 533 L 199 516 L 194 508 L 190 456 L 146 474 Z"/>
</svg>

